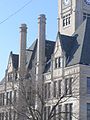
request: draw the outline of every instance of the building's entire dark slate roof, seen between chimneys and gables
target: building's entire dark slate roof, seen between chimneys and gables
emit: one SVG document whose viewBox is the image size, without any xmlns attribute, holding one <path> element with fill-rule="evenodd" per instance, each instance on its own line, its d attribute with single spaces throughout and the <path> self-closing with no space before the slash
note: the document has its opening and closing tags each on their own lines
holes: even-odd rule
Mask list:
<svg viewBox="0 0 90 120">
<path fill-rule="evenodd" d="M 75 64 L 90 65 L 90 18 L 86 19 L 72 36 L 62 35 L 58 32 L 62 50 L 65 52 L 66 66 Z M 45 41 L 46 66 L 45 71 L 50 70 L 51 55 L 54 52 L 55 42 Z M 37 53 L 37 39 L 27 50 L 27 68 L 30 69 Z M 19 55 L 12 54 L 13 66 L 18 69 Z"/>
</svg>

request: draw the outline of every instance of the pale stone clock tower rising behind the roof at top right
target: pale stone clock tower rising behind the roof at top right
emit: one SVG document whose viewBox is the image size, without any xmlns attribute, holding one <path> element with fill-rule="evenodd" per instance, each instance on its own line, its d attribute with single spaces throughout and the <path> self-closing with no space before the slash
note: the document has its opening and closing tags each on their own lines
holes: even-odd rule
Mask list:
<svg viewBox="0 0 90 120">
<path fill-rule="evenodd" d="M 90 17 L 90 0 L 58 0 L 58 31 L 72 35 Z"/>
</svg>

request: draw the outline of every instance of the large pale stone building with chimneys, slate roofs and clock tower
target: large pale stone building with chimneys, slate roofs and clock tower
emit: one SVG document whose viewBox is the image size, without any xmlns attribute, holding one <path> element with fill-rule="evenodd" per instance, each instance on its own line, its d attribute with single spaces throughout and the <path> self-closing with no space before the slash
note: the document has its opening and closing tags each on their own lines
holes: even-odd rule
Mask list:
<svg viewBox="0 0 90 120">
<path fill-rule="evenodd" d="M 22 24 L 20 31 L 20 54 L 10 53 L 0 85 L 0 119 L 18 118 L 10 103 L 13 98 L 14 102 L 19 98 L 18 110 L 25 106 L 20 99 L 19 85 L 22 80 L 32 79 L 33 87 L 38 89 L 39 85 L 43 93 L 44 120 L 49 117 L 53 120 L 90 120 L 90 0 L 58 0 L 55 42 L 46 38 L 43 14 L 38 18 L 38 38 L 30 48 L 26 49 L 27 26 Z M 41 111 L 40 100 L 37 95 L 34 97 L 35 108 Z M 23 110 L 25 113 L 26 109 Z M 19 120 L 25 119 L 20 114 Z"/>
</svg>

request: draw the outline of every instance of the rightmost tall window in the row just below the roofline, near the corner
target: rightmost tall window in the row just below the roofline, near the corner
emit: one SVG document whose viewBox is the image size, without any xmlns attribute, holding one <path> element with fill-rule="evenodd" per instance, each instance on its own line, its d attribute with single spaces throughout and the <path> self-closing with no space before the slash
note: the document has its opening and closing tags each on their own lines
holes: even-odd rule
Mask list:
<svg viewBox="0 0 90 120">
<path fill-rule="evenodd" d="M 65 79 L 65 94 L 72 94 L 72 78 Z"/>
</svg>

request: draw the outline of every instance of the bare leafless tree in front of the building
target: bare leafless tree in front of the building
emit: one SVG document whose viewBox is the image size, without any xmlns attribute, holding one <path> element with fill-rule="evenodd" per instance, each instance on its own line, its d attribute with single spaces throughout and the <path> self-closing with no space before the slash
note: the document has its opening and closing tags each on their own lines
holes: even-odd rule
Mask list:
<svg viewBox="0 0 90 120">
<path fill-rule="evenodd" d="M 79 118 L 77 116 L 77 113 L 73 113 L 72 111 L 70 111 L 70 109 L 72 109 L 72 104 L 70 104 L 70 106 L 68 106 L 68 104 L 65 104 L 65 110 L 61 110 L 61 105 L 67 103 L 67 101 L 69 101 L 70 99 L 74 99 L 78 102 L 78 80 L 78 75 L 69 76 L 69 78 L 63 78 L 60 81 L 60 84 L 62 84 L 61 89 L 63 89 L 63 91 L 61 92 L 60 89 L 55 90 L 57 89 L 55 86 L 52 88 L 52 90 L 45 91 L 50 87 L 50 84 L 46 86 L 44 81 L 42 82 L 42 84 L 40 84 L 39 82 L 36 83 L 36 81 L 34 81 L 32 77 L 30 77 L 30 79 L 29 77 L 21 78 L 18 84 L 18 104 L 17 107 L 15 107 L 14 105 L 13 106 L 18 115 L 23 119 L 51 120 L 53 118 L 54 120 L 60 120 L 62 118 L 63 120 L 69 120 L 72 116 L 76 120 L 78 120 Z M 54 93 L 53 91 L 56 91 L 56 93 Z M 56 95 L 54 96 L 54 94 Z M 20 120 L 20 118 L 18 119 Z"/>
</svg>

